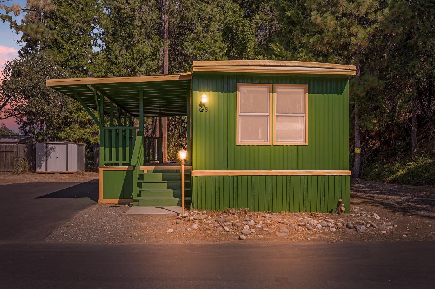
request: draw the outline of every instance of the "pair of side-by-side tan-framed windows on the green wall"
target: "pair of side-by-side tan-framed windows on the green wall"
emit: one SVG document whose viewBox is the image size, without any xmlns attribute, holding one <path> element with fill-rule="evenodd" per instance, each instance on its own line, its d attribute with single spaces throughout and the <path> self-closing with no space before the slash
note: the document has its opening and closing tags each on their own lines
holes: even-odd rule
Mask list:
<svg viewBox="0 0 435 289">
<path fill-rule="evenodd" d="M 237 144 L 308 144 L 308 85 L 237 84 Z M 273 125 L 272 125 L 273 122 Z"/>
</svg>

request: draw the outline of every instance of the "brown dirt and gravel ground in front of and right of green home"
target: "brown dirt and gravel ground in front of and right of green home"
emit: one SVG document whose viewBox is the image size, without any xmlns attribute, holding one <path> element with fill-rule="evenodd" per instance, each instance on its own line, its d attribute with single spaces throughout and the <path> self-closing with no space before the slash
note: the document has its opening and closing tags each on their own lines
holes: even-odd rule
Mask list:
<svg viewBox="0 0 435 289">
<path fill-rule="evenodd" d="M 361 211 L 368 215 L 376 213 L 380 220 L 351 214 L 301 212 L 298 215 L 277 213 L 264 217 L 264 213 L 260 212 L 237 212 L 227 215 L 221 211 L 198 210 L 197 215 L 207 215 L 204 220 L 188 220 L 187 217 L 183 219 L 184 224 L 177 224 L 175 217 L 124 215 L 129 207 L 96 204 L 59 227 L 45 241 L 106 244 L 241 242 L 238 237 L 244 228 L 243 225 L 248 223 L 244 218 L 254 220 L 255 224 L 250 226 L 250 229 L 254 228 L 256 232 L 246 234 L 247 240 L 243 242 L 435 241 L 434 204 L 434 187 L 412 187 L 360 180 L 351 181 L 351 207 L 355 208 L 357 214 L 361 214 Z M 220 222 L 219 227 L 215 227 L 214 224 L 217 223 L 215 220 L 221 216 L 224 220 L 233 223 L 225 226 L 224 222 Z M 334 224 L 341 222 L 344 225 L 341 227 L 334 225 L 335 231 L 332 231 L 331 227 L 307 230 L 306 227 L 297 225 L 306 220 L 304 218 L 319 222 L 332 219 Z M 380 229 L 375 229 L 373 226 L 368 227 L 365 233 L 358 233 L 355 229 L 345 229 L 347 222 L 357 224 L 363 219 L 376 221 L 379 226 L 388 226 L 388 223 L 391 223 L 389 226 L 391 229 L 385 230 L 387 233 L 381 233 Z M 198 229 L 191 228 L 195 222 L 198 223 Z M 235 226 L 238 222 L 242 227 Z M 255 225 L 260 222 L 261 227 L 256 228 Z M 291 230 L 290 224 L 294 225 L 295 230 Z M 290 230 L 286 236 L 278 236 L 277 233 L 282 233 L 280 227 L 283 225 Z M 223 227 L 228 227 L 234 232 L 218 231 L 218 228 Z M 263 231 L 265 227 L 268 231 Z M 169 229 L 174 231 L 167 233 Z"/>
</svg>

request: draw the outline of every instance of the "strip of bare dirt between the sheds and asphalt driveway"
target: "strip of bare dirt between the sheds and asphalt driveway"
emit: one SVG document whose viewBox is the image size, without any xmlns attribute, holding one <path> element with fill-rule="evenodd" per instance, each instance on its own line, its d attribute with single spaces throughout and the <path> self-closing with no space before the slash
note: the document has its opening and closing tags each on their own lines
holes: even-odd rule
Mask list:
<svg viewBox="0 0 435 289">
<path fill-rule="evenodd" d="M 69 174 L 0 174 L 0 184 L 31 183 L 31 182 L 87 182 L 98 178 L 98 173 L 83 172 Z"/>
</svg>

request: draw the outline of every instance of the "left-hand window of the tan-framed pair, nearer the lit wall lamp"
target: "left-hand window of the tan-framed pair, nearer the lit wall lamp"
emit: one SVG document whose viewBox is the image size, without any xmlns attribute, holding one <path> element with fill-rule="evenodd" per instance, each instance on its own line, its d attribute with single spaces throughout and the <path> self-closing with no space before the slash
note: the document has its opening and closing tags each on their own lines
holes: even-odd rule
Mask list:
<svg viewBox="0 0 435 289">
<path fill-rule="evenodd" d="M 272 144 L 270 84 L 237 84 L 237 144 Z"/>
</svg>

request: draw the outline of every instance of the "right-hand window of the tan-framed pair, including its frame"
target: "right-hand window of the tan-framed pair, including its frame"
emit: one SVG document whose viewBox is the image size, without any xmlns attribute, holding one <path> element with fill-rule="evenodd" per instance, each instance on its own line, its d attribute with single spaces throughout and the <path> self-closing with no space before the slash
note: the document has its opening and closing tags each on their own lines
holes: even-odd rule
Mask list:
<svg viewBox="0 0 435 289">
<path fill-rule="evenodd" d="M 308 144 L 308 85 L 274 90 L 274 144 Z"/>
</svg>

